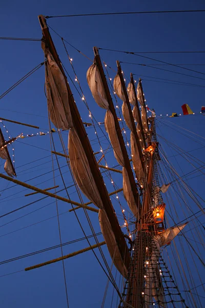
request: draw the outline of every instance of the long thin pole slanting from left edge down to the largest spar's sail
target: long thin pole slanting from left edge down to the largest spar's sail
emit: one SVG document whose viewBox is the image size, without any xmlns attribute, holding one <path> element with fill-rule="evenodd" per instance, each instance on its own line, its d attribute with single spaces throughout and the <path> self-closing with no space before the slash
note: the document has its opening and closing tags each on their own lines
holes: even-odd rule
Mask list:
<svg viewBox="0 0 205 308">
<path fill-rule="evenodd" d="M 35 190 L 35 191 L 37 191 L 37 192 L 40 192 L 40 194 L 47 195 L 47 196 L 49 196 L 49 197 L 51 197 L 51 198 L 55 198 L 55 199 L 58 199 L 58 200 L 60 200 L 60 201 L 64 201 L 64 202 L 67 202 L 67 203 L 70 203 L 70 204 L 74 204 L 74 205 L 77 205 L 77 206 L 80 205 L 81 207 L 85 207 L 86 209 L 89 209 L 89 210 L 91 210 L 91 211 L 94 211 L 94 212 L 98 213 L 98 209 L 95 209 L 95 208 L 90 207 L 90 206 L 86 206 L 86 205 L 84 205 L 84 204 L 81 204 L 81 203 L 78 203 L 78 202 L 75 202 L 75 201 L 72 201 L 72 200 L 69 200 L 69 199 L 66 199 L 66 198 L 64 198 L 64 197 L 57 196 L 57 195 L 55 195 L 55 194 L 52 194 L 51 192 L 48 192 L 48 191 L 46 191 L 46 190 L 37 188 L 37 187 L 35 187 L 35 186 L 32 186 L 32 185 L 29 185 L 29 184 L 27 184 L 27 183 L 21 182 L 21 181 L 19 181 L 19 180 L 12 179 L 12 178 L 7 177 L 7 176 L 5 176 L 5 175 L 3 175 L 3 174 L 0 174 L 0 178 L 3 178 L 3 179 L 5 179 L 5 180 L 7 180 L 7 181 L 11 181 L 11 182 L 13 182 L 13 183 L 15 183 L 15 184 L 18 184 L 18 185 L 20 185 L 20 186 L 23 186 L 23 187 L 26 187 L 26 188 Z"/>
</svg>

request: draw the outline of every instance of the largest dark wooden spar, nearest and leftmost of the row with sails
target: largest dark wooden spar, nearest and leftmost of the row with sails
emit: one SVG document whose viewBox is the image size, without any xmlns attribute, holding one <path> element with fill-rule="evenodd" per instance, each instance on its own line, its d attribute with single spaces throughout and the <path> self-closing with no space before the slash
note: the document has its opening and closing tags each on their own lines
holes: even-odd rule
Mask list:
<svg viewBox="0 0 205 308">
<path fill-rule="evenodd" d="M 122 258 L 122 260 L 125 260 L 125 265 L 126 265 L 127 268 L 129 268 L 130 253 L 128 251 L 128 246 L 126 244 L 124 235 L 121 232 L 118 220 L 115 216 L 114 208 L 113 208 L 112 203 L 110 201 L 110 197 L 108 195 L 108 191 L 107 191 L 105 183 L 103 181 L 103 177 L 100 174 L 100 171 L 99 171 L 97 162 L 95 160 L 95 156 L 94 156 L 92 147 L 90 145 L 90 141 L 89 141 L 88 136 L 87 136 L 86 129 L 83 125 L 83 122 L 81 121 L 79 111 L 77 109 L 77 106 L 76 106 L 74 98 L 73 98 L 73 94 L 72 94 L 70 86 L 68 84 L 67 77 L 65 75 L 65 72 L 64 72 L 63 67 L 61 65 L 61 62 L 59 60 L 59 56 L 58 56 L 57 51 L 55 49 L 55 46 L 53 44 L 53 41 L 52 41 L 51 35 L 49 33 L 49 29 L 47 27 L 46 20 L 45 20 L 44 16 L 39 15 L 38 20 L 39 20 L 40 26 L 42 28 L 42 32 L 43 32 L 43 36 L 44 36 L 44 42 L 45 42 L 46 46 L 49 47 L 49 50 L 50 50 L 50 52 L 53 56 L 54 61 L 57 63 L 57 65 L 60 68 L 62 74 L 64 75 L 64 79 L 66 81 L 66 86 L 67 86 L 67 90 L 68 90 L 69 106 L 70 106 L 70 112 L 71 112 L 74 128 L 75 128 L 75 130 L 78 134 L 81 145 L 83 146 L 83 148 L 85 150 L 86 157 L 87 157 L 89 167 L 90 167 L 90 170 L 91 170 L 91 174 L 92 174 L 93 179 L 94 179 L 94 181 L 97 185 L 100 198 L 101 198 L 101 200 L 104 204 L 104 209 L 105 209 L 105 212 L 107 214 L 108 220 L 111 224 L 112 231 L 115 235 L 115 240 L 117 242 L 117 246 L 119 248 L 121 258 Z"/>
</svg>

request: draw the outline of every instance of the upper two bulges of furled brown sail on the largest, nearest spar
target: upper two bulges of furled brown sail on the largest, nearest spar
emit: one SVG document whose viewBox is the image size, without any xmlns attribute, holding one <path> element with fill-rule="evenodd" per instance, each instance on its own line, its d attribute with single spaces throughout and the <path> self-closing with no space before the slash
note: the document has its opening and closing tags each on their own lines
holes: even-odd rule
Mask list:
<svg viewBox="0 0 205 308">
<path fill-rule="evenodd" d="M 61 129 L 70 129 L 68 151 L 75 181 L 83 194 L 98 208 L 103 207 L 99 191 L 92 176 L 85 150 L 81 145 L 69 106 L 69 94 L 63 73 L 43 43 L 46 56 L 47 102 L 52 123 Z"/>
</svg>

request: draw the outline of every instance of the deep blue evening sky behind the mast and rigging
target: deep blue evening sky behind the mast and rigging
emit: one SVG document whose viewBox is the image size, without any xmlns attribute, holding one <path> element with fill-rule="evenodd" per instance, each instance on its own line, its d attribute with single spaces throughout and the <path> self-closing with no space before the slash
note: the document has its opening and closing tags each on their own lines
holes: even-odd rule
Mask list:
<svg viewBox="0 0 205 308">
<path fill-rule="evenodd" d="M 4 2 L 0 6 L 0 24 L 1 36 L 7 37 L 34 37 L 41 38 L 42 33 L 38 24 L 37 15 L 62 15 L 62 14 L 80 14 L 92 12 L 122 12 L 122 11 L 144 11 L 144 10 L 192 10 L 204 9 L 203 1 L 172 1 L 166 3 L 165 1 L 144 1 L 144 2 L 125 2 L 125 1 L 104 1 L 102 3 L 96 1 L 10 1 Z M 125 51 L 204 51 L 205 44 L 204 36 L 204 13 L 185 13 L 185 14 L 156 14 L 156 15 L 123 15 L 123 16 L 93 16 L 93 17 L 75 17 L 75 18 L 53 18 L 48 20 L 48 24 L 54 28 L 60 36 L 63 36 L 70 44 L 82 51 L 91 59 L 93 58 L 92 47 L 97 46 L 101 48 L 125 50 Z M 61 40 L 56 34 L 51 31 L 53 40 L 56 44 L 61 61 L 68 69 L 72 80 L 74 75 L 67 60 L 67 56 Z M 75 67 L 80 84 L 83 87 L 84 94 L 87 98 L 88 104 L 95 115 L 97 121 L 104 121 L 104 110 L 100 109 L 94 102 L 90 90 L 86 82 L 86 71 L 91 65 L 91 62 L 86 57 L 77 53 L 73 48 L 67 45 L 68 52 L 73 58 L 73 65 Z M 122 53 L 114 53 L 109 51 L 100 51 L 103 60 L 116 70 L 116 60 L 124 62 L 134 62 L 143 64 L 153 64 L 153 60 L 142 59 L 137 56 L 127 55 Z M 153 59 L 166 61 L 174 64 L 205 64 L 204 53 L 197 54 L 146 54 Z M 0 91 L 3 93 L 18 79 L 25 75 L 28 71 L 44 61 L 43 51 L 40 47 L 40 42 L 22 42 L 22 41 L 1 41 L 1 59 L 0 59 L 0 75 L 1 86 Z M 193 70 L 202 72 L 197 74 L 194 72 L 181 70 L 172 66 L 162 67 L 177 72 L 190 74 L 199 78 L 205 79 L 205 66 L 188 66 Z M 204 86 L 204 80 L 191 78 L 189 76 L 166 72 L 158 69 L 153 69 L 145 66 L 132 66 L 122 64 L 122 69 L 127 76 L 130 71 L 138 75 L 154 76 L 158 78 L 176 80 L 186 83 L 193 83 Z M 111 78 L 114 78 L 115 73 L 109 70 Z M 143 77 L 141 76 L 143 79 Z M 151 78 L 145 78 L 151 80 Z M 40 68 L 24 83 L 20 84 L 12 92 L 10 92 L 4 99 L 1 100 L 0 111 L 1 117 L 9 118 L 17 121 L 38 125 L 41 131 L 48 130 L 48 114 L 47 103 L 44 94 L 44 68 Z M 171 114 L 172 112 L 181 112 L 180 106 L 184 103 L 190 105 L 194 112 L 199 112 L 204 104 L 204 88 L 189 87 L 182 85 L 172 85 L 166 83 L 144 81 L 144 91 L 146 99 L 150 108 L 154 108 L 157 114 Z M 73 89 L 74 97 L 78 108 L 80 109 L 81 117 L 84 121 L 89 121 L 88 111 L 83 102 Z M 121 102 L 119 102 L 121 104 Z M 192 117 L 192 118 L 191 118 Z M 161 120 L 160 120 L 161 121 Z M 204 146 L 203 139 L 197 138 L 196 141 L 190 140 L 176 131 L 171 130 L 165 124 L 169 121 L 180 125 L 201 135 L 204 138 L 204 118 L 202 115 L 193 115 L 190 117 L 165 119 L 158 122 L 158 133 L 164 136 L 173 143 L 186 150 L 196 149 Z M 39 130 L 26 128 L 23 126 L 16 126 L 6 123 L 8 130 L 14 137 L 19 132 L 24 134 L 36 133 Z M 173 126 L 176 129 L 176 126 Z M 2 127 L 1 127 L 2 128 Z M 3 129 L 3 128 L 2 128 Z M 6 131 L 3 129 L 5 137 Z M 93 130 L 88 130 L 90 139 L 95 138 Z M 64 132 L 64 141 L 67 144 L 67 133 Z M 189 133 L 188 133 L 189 134 Z M 99 130 L 99 136 L 100 134 Z M 194 136 L 194 135 L 190 135 Z M 196 135 L 195 135 L 196 137 Z M 56 149 L 61 150 L 57 136 L 54 136 L 56 142 Z M 198 144 L 200 142 L 200 144 Z M 176 155 L 174 149 L 170 149 L 163 143 L 168 156 Z M 92 142 L 94 151 L 99 150 L 99 145 L 96 141 Z M 108 143 L 105 138 L 102 142 L 104 148 Z M 11 151 L 12 154 L 12 151 Z M 45 172 L 52 170 L 50 155 L 50 139 L 49 136 L 34 137 L 17 141 L 15 143 L 15 166 L 17 178 L 22 181 L 27 181 L 31 178 L 37 177 Z M 203 160 L 203 149 L 194 151 L 193 155 L 198 159 Z M 46 158 L 45 158 L 46 157 Z M 39 160 L 33 164 L 23 166 L 34 160 Z M 110 165 L 115 165 L 116 161 L 109 155 L 108 160 Z M 66 165 L 63 159 L 59 159 L 61 166 Z M 185 162 L 179 156 L 171 158 L 171 162 L 176 167 L 180 175 L 186 174 L 194 169 L 194 166 Z M 39 165 L 39 166 L 38 166 Z M 27 170 L 27 168 L 34 167 Z M 56 162 L 54 162 L 57 168 Z M 197 165 L 198 166 L 198 165 Z M 65 182 L 67 185 L 72 184 L 72 179 L 68 171 L 68 167 L 63 167 L 65 173 Z M 1 172 L 3 172 L 3 163 L 1 162 Z M 58 175 L 58 172 L 55 174 Z M 121 187 L 121 178 L 113 175 L 116 184 Z M 62 182 L 56 178 L 56 184 L 61 185 Z M 45 181 L 45 182 L 44 182 Z M 42 183 L 44 182 L 44 183 Z M 29 183 L 40 188 L 53 186 L 52 172 L 31 180 Z M 194 190 L 201 194 L 203 189 L 202 179 L 199 177 L 189 182 Z M 106 183 L 108 190 L 113 188 L 110 182 Z M 7 182 L 1 180 L 1 190 L 12 186 Z M 23 191 L 23 187 L 13 187 L 2 193 L 2 200 L 0 200 L 1 215 L 7 211 L 18 208 L 29 202 L 35 201 L 42 196 L 24 197 L 29 190 Z M 22 191 L 22 192 L 20 192 Z M 14 194 L 17 194 L 13 196 Z M 77 195 L 74 188 L 69 189 L 69 194 L 73 200 L 77 200 Z M 172 195 L 172 190 L 170 190 Z M 61 193 L 65 196 L 65 192 Z M 6 198 L 7 199 L 3 199 Z M 174 197 L 173 197 L 174 198 Z M 122 197 L 121 197 L 122 199 Z M 86 200 L 86 199 L 85 199 Z M 31 211 L 45 206 L 54 200 L 46 199 L 39 201 L 26 209 L 2 218 L 0 221 L 0 243 L 1 243 L 1 258 L 0 261 L 10 259 L 16 256 L 37 251 L 45 247 L 59 244 L 59 235 L 57 227 L 57 218 L 47 220 L 45 222 L 30 226 L 28 228 L 19 230 L 10 235 L 1 237 L 7 233 L 15 231 L 19 228 L 26 227 L 44 219 L 56 215 L 55 203 L 36 211 L 24 218 L 20 218 L 12 223 L 14 220 L 22 215 L 28 214 Z M 174 199 L 177 206 L 177 200 Z M 193 211 L 197 211 L 197 206 L 188 199 L 189 205 L 192 206 Z M 123 202 L 123 201 L 122 201 Z M 114 205 L 117 203 L 114 200 Z M 59 202 L 60 213 L 70 209 L 70 206 Z M 187 210 L 186 207 L 177 207 L 176 222 L 184 219 Z M 83 211 L 78 210 L 79 218 L 86 229 L 87 235 L 91 234 L 88 224 L 85 219 Z M 189 212 L 188 212 L 189 214 Z M 173 215 L 174 211 L 173 211 Z M 96 232 L 99 231 L 98 219 L 95 213 L 90 214 L 92 223 Z M 120 221 L 122 223 L 122 221 Z M 73 213 L 64 214 L 60 216 L 62 241 L 67 242 L 76 238 L 83 237 L 79 225 Z M 173 222 L 170 221 L 170 224 Z M 101 240 L 101 237 L 99 238 Z M 91 243 L 94 243 L 91 240 Z M 194 244 L 194 242 L 192 242 Z M 64 248 L 64 254 L 68 254 L 77 249 L 86 247 L 86 241 L 83 243 L 72 244 Z M 106 247 L 103 248 L 106 256 L 108 256 Z M 186 251 L 189 254 L 189 251 Z M 12 263 L 1 265 L 0 276 L 12 273 L 26 266 L 33 265 L 39 262 L 47 261 L 60 256 L 60 250 L 55 249 L 41 255 L 25 258 L 14 261 Z M 189 260 L 191 262 L 191 259 Z M 110 262 L 110 261 L 109 261 Z M 199 265 L 198 260 L 196 263 Z M 110 264 L 110 263 L 109 263 Z M 68 294 L 71 307 L 100 307 L 103 299 L 106 276 L 101 271 L 92 252 L 84 255 L 79 255 L 75 258 L 67 260 L 66 277 L 68 281 Z M 176 267 L 174 267 L 177 269 Z M 115 271 L 114 271 L 115 273 Z M 17 273 L 14 275 L 0 277 L 1 292 L 0 304 L 2 307 L 66 307 L 65 288 L 63 280 L 63 271 L 60 263 L 50 266 L 42 267 L 28 273 Z M 200 281 L 195 277 L 196 285 Z M 183 286 L 179 285 L 180 290 Z M 199 294 L 202 295 L 202 289 L 199 289 Z M 108 297 L 112 296 L 112 288 L 109 289 Z M 108 301 L 110 303 L 110 301 Z"/>
</svg>

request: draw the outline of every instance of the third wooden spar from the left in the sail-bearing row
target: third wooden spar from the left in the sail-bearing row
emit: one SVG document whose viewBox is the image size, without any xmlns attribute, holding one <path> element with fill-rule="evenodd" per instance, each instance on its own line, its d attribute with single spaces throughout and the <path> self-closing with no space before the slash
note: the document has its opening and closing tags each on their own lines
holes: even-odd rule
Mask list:
<svg viewBox="0 0 205 308">
<path fill-rule="evenodd" d="M 135 125 L 135 122 L 134 122 L 132 109 L 131 109 L 131 106 L 130 106 L 130 100 L 129 100 L 129 97 L 128 97 L 128 92 L 127 92 L 127 89 L 126 89 L 124 78 L 122 76 L 120 63 L 119 63 L 119 61 L 116 61 L 116 63 L 117 63 L 117 73 L 118 73 L 119 78 L 120 78 L 122 89 L 123 89 L 123 92 L 124 92 L 125 98 L 126 98 L 126 104 L 128 106 L 128 110 L 129 110 L 129 114 L 130 114 L 130 120 L 131 120 L 131 123 L 132 123 L 132 132 L 134 134 L 134 138 L 135 138 L 135 141 L 136 141 L 136 144 L 137 144 L 140 162 L 141 162 L 141 167 L 142 167 L 142 170 L 144 170 L 145 169 L 144 157 L 142 155 L 141 146 L 140 146 L 139 138 L 138 138 L 138 135 L 137 135 L 136 125 Z"/>
</svg>

